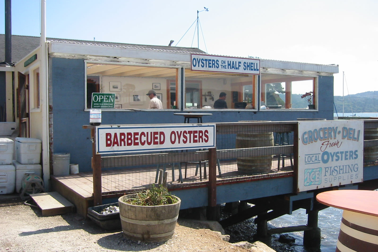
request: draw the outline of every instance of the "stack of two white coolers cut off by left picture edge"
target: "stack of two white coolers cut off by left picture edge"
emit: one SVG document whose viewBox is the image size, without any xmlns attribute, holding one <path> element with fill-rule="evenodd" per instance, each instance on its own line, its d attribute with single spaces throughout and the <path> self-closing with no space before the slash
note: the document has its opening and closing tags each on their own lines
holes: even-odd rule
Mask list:
<svg viewBox="0 0 378 252">
<path fill-rule="evenodd" d="M 0 194 L 13 193 L 15 167 L 12 165 L 13 140 L 0 138 Z"/>
</svg>

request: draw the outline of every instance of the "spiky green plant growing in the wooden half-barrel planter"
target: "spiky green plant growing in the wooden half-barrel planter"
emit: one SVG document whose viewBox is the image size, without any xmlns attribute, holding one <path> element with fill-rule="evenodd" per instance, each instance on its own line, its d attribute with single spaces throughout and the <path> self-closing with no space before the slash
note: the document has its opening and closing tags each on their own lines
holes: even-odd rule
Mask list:
<svg viewBox="0 0 378 252">
<path fill-rule="evenodd" d="M 150 189 L 135 193 L 133 197 L 127 198 L 124 202 L 132 205 L 167 205 L 178 202 L 177 198 L 173 197 L 166 187 L 159 185 L 156 187 L 152 184 Z"/>
</svg>

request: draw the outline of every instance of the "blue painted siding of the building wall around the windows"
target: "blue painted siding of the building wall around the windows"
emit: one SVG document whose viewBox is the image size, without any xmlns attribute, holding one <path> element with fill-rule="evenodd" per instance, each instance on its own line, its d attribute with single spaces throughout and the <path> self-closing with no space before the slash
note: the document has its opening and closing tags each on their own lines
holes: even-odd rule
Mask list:
<svg viewBox="0 0 378 252">
<path fill-rule="evenodd" d="M 89 112 L 84 111 L 84 60 L 51 58 L 50 85 L 53 107 L 53 151 L 71 154 L 71 163 L 79 164 L 80 171 L 91 171 Z M 296 118 L 333 119 L 333 77 L 319 76 L 319 112 L 309 111 L 212 111 L 203 123 L 242 120 L 287 121 Z M 177 111 L 103 111 L 102 124 L 183 123 Z"/>
</svg>

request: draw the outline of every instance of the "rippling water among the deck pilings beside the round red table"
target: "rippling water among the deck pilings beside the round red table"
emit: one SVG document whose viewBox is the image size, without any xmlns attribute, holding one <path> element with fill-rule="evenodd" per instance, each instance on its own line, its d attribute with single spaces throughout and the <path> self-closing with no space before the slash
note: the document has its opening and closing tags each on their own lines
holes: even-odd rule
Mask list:
<svg viewBox="0 0 378 252">
<path fill-rule="evenodd" d="M 335 252 L 336 242 L 339 236 L 339 229 L 342 217 L 342 210 L 334 207 L 328 207 L 319 211 L 318 227 L 321 230 L 321 252 Z M 273 219 L 268 224 L 274 227 L 299 226 L 307 224 L 307 214 L 305 209 L 298 209 L 293 211 L 291 215 L 283 215 L 279 218 Z M 296 252 L 310 252 L 303 246 L 303 231 L 291 232 L 288 235 L 296 238 L 293 249 Z M 282 250 L 283 252 L 284 250 Z M 277 250 L 277 252 L 280 252 Z"/>
</svg>

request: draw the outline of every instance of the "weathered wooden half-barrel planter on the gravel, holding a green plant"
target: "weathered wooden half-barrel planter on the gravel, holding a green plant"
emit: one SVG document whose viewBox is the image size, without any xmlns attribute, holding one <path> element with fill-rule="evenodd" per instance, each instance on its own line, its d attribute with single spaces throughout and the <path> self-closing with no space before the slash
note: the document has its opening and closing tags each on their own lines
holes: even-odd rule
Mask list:
<svg viewBox="0 0 378 252">
<path fill-rule="evenodd" d="M 124 202 L 135 194 L 121 196 L 118 199 L 119 217 L 125 237 L 135 241 L 167 241 L 172 238 L 181 199 L 168 205 L 141 206 Z"/>
</svg>

